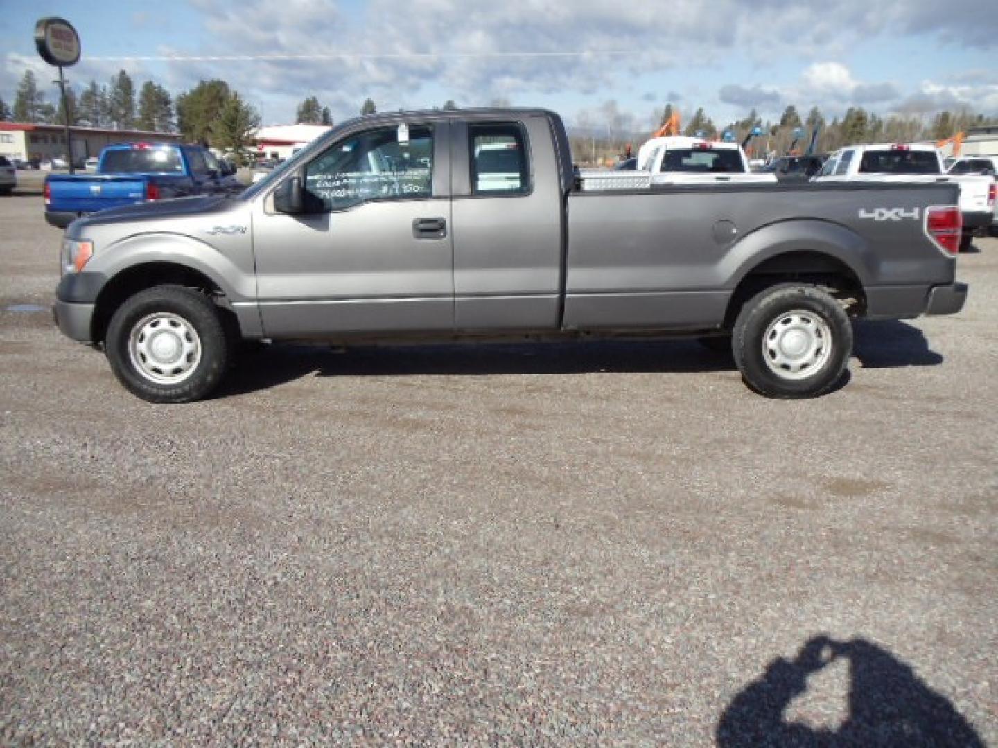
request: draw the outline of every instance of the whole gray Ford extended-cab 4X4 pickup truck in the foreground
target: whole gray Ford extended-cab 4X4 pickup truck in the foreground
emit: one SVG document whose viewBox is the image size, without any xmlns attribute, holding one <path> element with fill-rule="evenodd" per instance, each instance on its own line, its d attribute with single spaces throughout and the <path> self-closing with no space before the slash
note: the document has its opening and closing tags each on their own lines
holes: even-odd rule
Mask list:
<svg viewBox="0 0 998 748">
<path fill-rule="evenodd" d="M 74 221 L 55 316 L 154 402 L 241 339 L 731 336 L 754 390 L 832 388 L 850 316 L 951 314 L 957 187 L 581 184 L 543 110 L 345 122 L 238 196 Z"/>
</svg>

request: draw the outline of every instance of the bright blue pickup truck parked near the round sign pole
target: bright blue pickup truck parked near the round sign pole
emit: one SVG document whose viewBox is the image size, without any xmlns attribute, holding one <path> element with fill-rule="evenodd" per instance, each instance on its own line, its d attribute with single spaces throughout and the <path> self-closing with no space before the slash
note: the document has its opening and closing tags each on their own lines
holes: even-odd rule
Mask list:
<svg viewBox="0 0 998 748">
<path fill-rule="evenodd" d="M 108 146 L 96 174 L 45 178 L 45 219 L 65 228 L 81 215 L 110 207 L 191 194 L 231 194 L 244 188 L 235 171 L 202 146 Z"/>
</svg>

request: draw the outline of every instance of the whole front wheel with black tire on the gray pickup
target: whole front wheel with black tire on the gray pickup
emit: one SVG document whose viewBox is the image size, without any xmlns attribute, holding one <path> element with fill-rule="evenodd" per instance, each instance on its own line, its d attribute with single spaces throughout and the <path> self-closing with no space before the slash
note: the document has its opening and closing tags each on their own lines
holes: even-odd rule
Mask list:
<svg viewBox="0 0 998 748">
<path fill-rule="evenodd" d="M 132 394 L 151 403 L 189 403 L 207 397 L 222 381 L 232 360 L 230 340 L 205 294 L 158 285 L 118 307 L 105 353 Z"/>
</svg>

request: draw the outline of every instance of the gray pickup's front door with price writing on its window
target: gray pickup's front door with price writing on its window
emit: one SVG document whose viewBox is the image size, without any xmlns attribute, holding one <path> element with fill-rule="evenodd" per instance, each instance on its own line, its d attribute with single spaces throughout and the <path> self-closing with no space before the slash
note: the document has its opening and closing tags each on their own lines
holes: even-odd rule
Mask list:
<svg viewBox="0 0 998 748">
<path fill-rule="evenodd" d="M 259 203 L 253 244 L 266 336 L 453 328 L 446 128 L 348 135 L 304 168 L 307 213 Z"/>
</svg>

